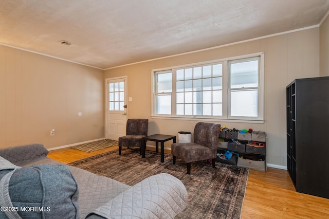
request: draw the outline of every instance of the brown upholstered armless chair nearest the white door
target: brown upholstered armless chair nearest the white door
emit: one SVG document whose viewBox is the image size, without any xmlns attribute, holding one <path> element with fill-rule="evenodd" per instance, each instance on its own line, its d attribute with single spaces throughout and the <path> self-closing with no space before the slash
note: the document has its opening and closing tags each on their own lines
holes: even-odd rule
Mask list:
<svg viewBox="0 0 329 219">
<path fill-rule="evenodd" d="M 122 147 L 139 147 L 139 154 L 142 154 L 142 137 L 148 135 L 148 119 L 128 119 L 126 136 L 119 137 L 119 155 Z"/>
</svg>

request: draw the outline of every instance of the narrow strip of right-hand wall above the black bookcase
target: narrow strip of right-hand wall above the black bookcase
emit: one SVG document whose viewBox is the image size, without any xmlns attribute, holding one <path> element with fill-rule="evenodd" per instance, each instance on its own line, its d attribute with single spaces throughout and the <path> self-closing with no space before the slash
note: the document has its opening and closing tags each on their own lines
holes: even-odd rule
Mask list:
<svg viewBox="0 0 329 219">
<path fill-rule="evenodd" d="M 329 76 L 329 16 L 320 26 L 320 76 Z"/>
</svg>

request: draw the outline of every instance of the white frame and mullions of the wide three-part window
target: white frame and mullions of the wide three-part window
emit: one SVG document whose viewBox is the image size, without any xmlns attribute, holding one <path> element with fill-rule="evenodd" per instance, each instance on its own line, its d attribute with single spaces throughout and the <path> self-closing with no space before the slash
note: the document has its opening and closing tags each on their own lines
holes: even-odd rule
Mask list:
<svg viewBox="0 0 329 219">
<path fill-rule="evenodd" d="M 237 116 L 230 116 L 230 97 L 229 97 L 229 69 L 228 69 L 228 63 L 230 61 L 238 61 L 243 59 L 250 59 L 254 57 L 259 57 L 259 97 L 258 97 L 258 116 L 257 117 L 237 117 Z M 176 80 L 172 81 L 172 95 L 171 95 L 171 107 L 172 107 L 172 114 L 171 115 L 165 115 L 165 114 L 155 114 L 155 75 L 157 72 L 165 72 L 165 71 L 171 71 L 172 72 L 172 78 L 176 79 L 176 69 L 178 68 L 187 68 L 187 67 L 194 67 L 197 65 L 207 65 L 207 64 L 216 64 L 216 63 L 223 63 L 223 113 L 222 116 L 187 116 L 187 115 L 176 115 Z M 200 62 L 200 63 L 191 63 L 187 65 L 180 65 L 180 66 L 172 66 L 167 68 L 161 68 L 161 69 L 153 69 L 151 70 L 151 78 L 152 78 L 152 118 L 155 119 L 182 119 L 182 120 L 209 120 L 209 121 L 225 121 L 225 122 L 246 122 L 246 123 L 264 123 L 264 52 L 257 52 L 252 54 L 246 54 L 243 56 L 236 56 L 236 57 L 230 57 L 225 59 L 219 59 L 219 60 L 212 60 L 207 62 Z"/>
</svg>

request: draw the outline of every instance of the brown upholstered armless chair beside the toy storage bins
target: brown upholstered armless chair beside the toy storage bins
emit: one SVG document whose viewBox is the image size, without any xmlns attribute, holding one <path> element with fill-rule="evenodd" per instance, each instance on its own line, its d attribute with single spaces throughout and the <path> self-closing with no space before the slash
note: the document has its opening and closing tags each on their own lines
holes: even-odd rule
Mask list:
<svg viewBox="0 0 329 219">
<path fill-rule="evenodd" d="M 191 162 L 212 159 L 215 168 L 220 130 L 220 124 L 198 122 L 194 127 L 194 142 L 171 144 L 173 164 L 176 164 L 176 157 L 187 162 L 187 174 L 191 174 Z"/>
</svg>

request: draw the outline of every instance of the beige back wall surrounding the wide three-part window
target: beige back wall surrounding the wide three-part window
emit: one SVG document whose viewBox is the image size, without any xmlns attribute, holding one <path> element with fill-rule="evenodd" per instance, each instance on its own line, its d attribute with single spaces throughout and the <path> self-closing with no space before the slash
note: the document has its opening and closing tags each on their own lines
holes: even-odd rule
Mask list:
<svg viewBox="0 0 329 219">
<path fill-rule="evenodd" d="M 194 120 L 151 118 L 151 70 L 195 62 L 265 52 L 265 123 L 232 123 L 222 126 L 261 130 L 267 133 L 267 162 L 286 166 L 285 87 L 295 78 L 319 77 L 319 28 L 313 28 L 266 39 L 200 51 L 105 70 L 104 78 L 128 77 L 129 118 L 148 118 L 149 134 L 177 135 L 193 132 Z M 170 143 L 165 147 L 170 148 Z"/>
</svg>

